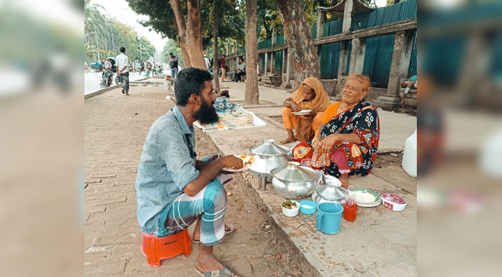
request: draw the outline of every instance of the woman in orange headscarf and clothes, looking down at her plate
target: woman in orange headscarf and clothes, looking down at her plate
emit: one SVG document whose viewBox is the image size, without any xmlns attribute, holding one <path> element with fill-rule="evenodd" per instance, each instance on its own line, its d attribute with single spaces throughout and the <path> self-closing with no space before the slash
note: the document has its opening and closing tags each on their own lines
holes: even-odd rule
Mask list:
<svg viewBox="0 0 502 277">
<path fill-rule="evenodd" d="M 287 138 L 280 143 L 294 141 L 310 142 L 319 133 L 323 119 L 323 111 L 331 104 L 328 93 L 324 91 L 321 81 L 314 77 L 303 80 L 298 90 L 284 101 L 283 123 L 287 131 Z M 297 116 L 292 112 L 312 110 L 310 114 Z M 296 129 L 296 136 L 293 134 Z"/>
</svg>

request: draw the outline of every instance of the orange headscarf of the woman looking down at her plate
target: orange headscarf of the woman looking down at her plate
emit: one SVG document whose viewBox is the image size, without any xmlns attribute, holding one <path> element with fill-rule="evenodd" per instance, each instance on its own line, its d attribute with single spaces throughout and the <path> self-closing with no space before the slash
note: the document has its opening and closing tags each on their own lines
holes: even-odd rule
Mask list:
<svg viewBox="0 0 502 277">
<path fill-rule="evenodd" d="M 314 99 L 308 102 L 303 101 L 303 85 L 307 84 L 307 86 L 312 87 L 316 92 L 316 96 Z M 312 109 L 314 111 L 322 112 L 331 104 L 330 97 L 328 93 L 323 89 L 323 84 L 321 81 L 317 80 L 317 78 L 309 77 L 303 80 L 300 87 L 294 91 L 291 96 L 292 100 L 298 104 L 298 107 L 302 109 Z"/>
</svg>

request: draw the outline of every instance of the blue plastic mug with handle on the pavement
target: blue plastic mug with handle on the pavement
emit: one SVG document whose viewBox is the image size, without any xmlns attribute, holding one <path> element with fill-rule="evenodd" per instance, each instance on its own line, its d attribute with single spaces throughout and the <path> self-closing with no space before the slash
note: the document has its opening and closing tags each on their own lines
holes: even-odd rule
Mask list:
<svg viewBox="0 0 502 277">
<path fill-rule="evenodd" d="M 317 205 L 316 229 L 329 235 L 340 231 L 343 206 L 338 203 L 321 203 Z"/>
</svg>

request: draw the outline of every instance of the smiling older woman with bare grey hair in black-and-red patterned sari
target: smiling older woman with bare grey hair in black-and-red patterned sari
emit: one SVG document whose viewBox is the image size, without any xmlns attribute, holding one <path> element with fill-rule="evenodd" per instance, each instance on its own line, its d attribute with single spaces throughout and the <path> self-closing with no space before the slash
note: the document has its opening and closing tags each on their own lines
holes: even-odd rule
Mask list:
<svg viewBox="0 0 502 277">
<path fill-rule="evenodd" d="M 367 76 L 348 75 L 342 100 L 326 109 L 321 131 L 312 141 L 310 166 L 338 177 L 343 188 L 348 187 L 349 175 L 368 175 L 377 159 L 380 122 L 377 109 L 364 100 L 369 86 Z M 298 151 L 292 152 L 298 159 Z"/>
</svg>

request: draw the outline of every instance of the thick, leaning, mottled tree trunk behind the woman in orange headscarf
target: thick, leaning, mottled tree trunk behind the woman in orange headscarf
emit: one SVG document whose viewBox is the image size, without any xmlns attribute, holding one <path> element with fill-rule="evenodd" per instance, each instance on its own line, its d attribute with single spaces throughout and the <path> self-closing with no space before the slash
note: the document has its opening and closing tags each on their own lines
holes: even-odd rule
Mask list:
<svg viewBox="0 0 502 277">
<path fill-rule="evenodd" d="M 290 51 L 295 89 L 307 77 L 321 78 L 319 57 L 301 0 L 275 0 Z"/>
</svg>

